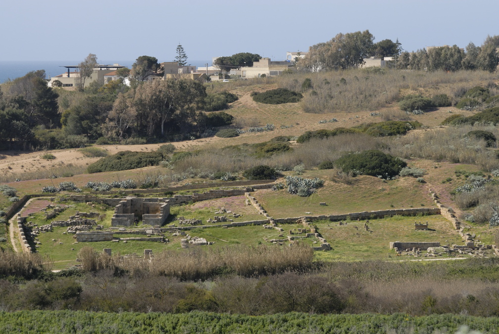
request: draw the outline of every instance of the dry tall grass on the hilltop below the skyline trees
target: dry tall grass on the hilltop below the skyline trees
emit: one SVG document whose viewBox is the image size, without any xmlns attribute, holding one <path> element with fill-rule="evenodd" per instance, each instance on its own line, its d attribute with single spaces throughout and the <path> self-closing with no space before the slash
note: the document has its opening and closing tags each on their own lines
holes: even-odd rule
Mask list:
<svg viewBox="0 0 499 334">
<path fill-rule="evenodd" d="M 236 80 L 228 85 L 217 85 L 215 90 L 274 83 L 277 87 L 300 92 L 307 78 L 311 79 L 312 88 L 304 94 L 301 106 L 305 112 L 323 113 L 376 110 L 397 101 L 405 95 L 403 91 L 429 94 L 427 97 L 447 94 L 456 104 L 467 89 L 492 82 L 496 75 L 484 71 L 446 73 L 365 68 Z"/>
</svg>

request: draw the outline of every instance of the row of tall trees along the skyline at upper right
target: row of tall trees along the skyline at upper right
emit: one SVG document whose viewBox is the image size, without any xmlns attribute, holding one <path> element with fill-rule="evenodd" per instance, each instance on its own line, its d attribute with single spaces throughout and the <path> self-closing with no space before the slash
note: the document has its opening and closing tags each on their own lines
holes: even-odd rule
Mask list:
<svg viewBox="0 0 499 334">
<path fill-rule="evenodd" d="M 499 47 L 499 35 L 488 36 L 482 46 L 470 43 L 466 51 L 453 45 L 402 52 L 402 44 L 398 39 L 396 42 L 390 39 L 377 43 L 373 41 L 374 36 L 369 30 L 338 33 L 327 42 L 310 46 L 306 57 L 300 60 L 300 65 L 312 72 L 338 70 L 358 67 L 367 57 L 393 56 L 398 69 L 481 69 L 492 72 L 496 70 L 499 60 L 496 51 Z"/>
</svg>

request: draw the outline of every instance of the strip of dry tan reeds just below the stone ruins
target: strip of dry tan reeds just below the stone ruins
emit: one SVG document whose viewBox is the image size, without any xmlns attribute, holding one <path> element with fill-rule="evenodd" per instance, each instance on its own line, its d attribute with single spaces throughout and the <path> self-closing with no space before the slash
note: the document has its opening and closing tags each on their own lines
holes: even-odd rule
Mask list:
<svg viewBox="0 0 499 334">
<path fill-rule="evenodd" d="M 311 267 L 313 251 L 306 245 L 285 249 L 266 245 L 222 249 L 194 247 L 155 254 L 154 259 L 148 261 L 130 257 L 109 257 L 90 247 L 84 247 L 78 257 L 82 260 L 85 271 L 120 268 L 131 273 L 145 271 L 156 276 L 196 281 L 221 273 L 250 277 L 276 274 L 285 270 L 305 270 Z"/>
</svg>

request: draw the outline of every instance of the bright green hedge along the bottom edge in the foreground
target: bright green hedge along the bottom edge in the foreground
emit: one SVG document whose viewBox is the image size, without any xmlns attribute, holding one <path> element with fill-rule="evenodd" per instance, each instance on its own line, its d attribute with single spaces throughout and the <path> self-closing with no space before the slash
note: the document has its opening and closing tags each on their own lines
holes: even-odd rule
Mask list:
<svg viewBox="0 0 499 334">
<path fill-rule="evenodd" d="M 1 333 L 455 333 L 462 325 L 497 333 L 498 318 L 456 315 L 242 316 L 206 312 L 182 314 L 82 311 L 0 312 Z"/>
</svg>

